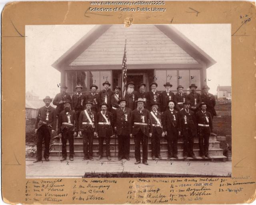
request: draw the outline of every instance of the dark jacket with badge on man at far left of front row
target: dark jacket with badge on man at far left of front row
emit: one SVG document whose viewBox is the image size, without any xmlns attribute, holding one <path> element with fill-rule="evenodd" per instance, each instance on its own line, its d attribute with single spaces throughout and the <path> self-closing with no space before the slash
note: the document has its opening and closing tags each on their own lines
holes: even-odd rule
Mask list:
<svg viewBox="0 0 256 205">
<path fill-rule="evenodd" d="M 47 116 L 48 115 L 48 116 Z M 38 114 L 36 117 L 35 129 L 40 129 L 44 123 L 40 122 L 44 121 L 48 126 L 51 126 L 53 130 L 56 129 L 56 110 L 54 107 L 49 106 L 48 108 L 40 107 L 38 110 Z"/>
</svg>

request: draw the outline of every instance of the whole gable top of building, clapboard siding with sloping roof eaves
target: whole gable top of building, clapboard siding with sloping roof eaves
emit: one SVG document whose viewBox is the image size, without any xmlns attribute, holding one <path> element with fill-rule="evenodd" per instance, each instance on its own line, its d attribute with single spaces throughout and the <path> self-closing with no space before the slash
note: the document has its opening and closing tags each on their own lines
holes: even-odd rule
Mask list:
<svg viewBox="0 0 256 205">
<path fill-rule="evenodd" d="M 127 64 L 200 64 L 216 62 L 173 26 L 95 26 L 52 66 L 122 65 L 126 43 Z"/>
</svg>

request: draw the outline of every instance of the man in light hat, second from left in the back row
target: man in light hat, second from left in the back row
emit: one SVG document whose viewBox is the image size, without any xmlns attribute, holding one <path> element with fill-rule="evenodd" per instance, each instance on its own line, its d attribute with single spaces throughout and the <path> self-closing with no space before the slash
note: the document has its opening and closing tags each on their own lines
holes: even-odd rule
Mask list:
<svg viewBox="0 0 256 205">
<path fill-rule="evenodd" d="M 79 118 L 80 112 L 84 110 L 84 102 L 86 100 L 86 96 L 82 94 L 83 87 L 81 85 L 77 85 L 76 87 L 76 94 L 72 96 L 72 105 L 73 111 L 76 113 L 76 119 Z"/>
</svg>

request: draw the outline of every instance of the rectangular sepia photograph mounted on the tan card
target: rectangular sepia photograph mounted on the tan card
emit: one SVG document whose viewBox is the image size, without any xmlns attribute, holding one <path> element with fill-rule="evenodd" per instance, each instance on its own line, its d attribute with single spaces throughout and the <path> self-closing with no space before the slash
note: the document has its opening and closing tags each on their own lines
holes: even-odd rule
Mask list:
<svg viewBox="0 0 256 205">
<path fill-rule="evenodd" d="M 26 25 L 26 178 L 231 177 L 231 24 Z"/>
</svg>

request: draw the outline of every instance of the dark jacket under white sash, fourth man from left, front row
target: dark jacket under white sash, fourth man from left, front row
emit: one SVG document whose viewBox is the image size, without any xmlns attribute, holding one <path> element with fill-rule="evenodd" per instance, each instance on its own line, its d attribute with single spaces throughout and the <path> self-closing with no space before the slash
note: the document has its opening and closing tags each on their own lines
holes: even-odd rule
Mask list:
<svg viewBox="0 0 256 205">
<path fill-rule="evenodd" d="M 99 137 L 111 137 L 113 135 L 113 129 L 114 129 L 113 115 L 110 111 L 107 111 L 105 116 L 110 122 L 110 125 L 100 125 L 99 122 L 106 122 L 106 120 L 102 116 L 101 112 L 97 113 L 97 121 L 98 121 L 97 132 Z"/>
</svg>

